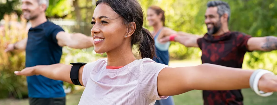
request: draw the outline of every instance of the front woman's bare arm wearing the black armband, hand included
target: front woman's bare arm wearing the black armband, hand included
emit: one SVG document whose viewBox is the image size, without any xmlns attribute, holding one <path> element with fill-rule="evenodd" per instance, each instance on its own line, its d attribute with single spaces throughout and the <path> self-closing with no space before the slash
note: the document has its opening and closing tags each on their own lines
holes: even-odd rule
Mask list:
<svg viewBox="0 0 277 105">
<path fill-rule="evenodd" d="M 81 66 L 81 68 L 79 69 L 79 81 L 82 86 L 84 86 L 83 80 L 82 80 L 83 68 L 84 66 Z M 42 75 L 50 79 L 61 80 L 61 81 L 65 81 L 73 84 L 70 79 L 70 70 L 71 70 L 71 65 L 59 63 L 59 64 L 52 64 L 52 65 L 39 65 L 39 66 L 29 67 L 29 68 L 23 69 L 22 71 L 15 71 L 14 73 L 16 75 L 24 75 L 24 76 Z"/>
</svg>

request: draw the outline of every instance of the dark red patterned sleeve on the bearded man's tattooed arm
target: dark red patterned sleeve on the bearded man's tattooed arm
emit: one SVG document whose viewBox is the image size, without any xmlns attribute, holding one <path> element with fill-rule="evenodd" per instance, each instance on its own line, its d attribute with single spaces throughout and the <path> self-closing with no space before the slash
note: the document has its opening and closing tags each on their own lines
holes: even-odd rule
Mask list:
<svg viewBox="0 0 277 105">
<path fill-rule="evenodd" d="M 237 45 L 238 45 L 238 48 L 240 48 L 242 51 L 248 51 L 248 46 L 247 46 L 247 41 L 248 39 L 252 38 L 252 36 L 250 35 L 247 35 L 245 33 L 238 33 L 237 34 Z"/>
</svg>

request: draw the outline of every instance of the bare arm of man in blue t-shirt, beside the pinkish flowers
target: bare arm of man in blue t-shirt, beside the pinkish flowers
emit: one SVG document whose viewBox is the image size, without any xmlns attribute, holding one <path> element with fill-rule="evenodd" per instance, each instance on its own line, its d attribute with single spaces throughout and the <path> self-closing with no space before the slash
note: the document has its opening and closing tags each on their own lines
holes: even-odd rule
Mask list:
<svg viewBox="0 0 277 105">
<path fill-rule="evenodd" d="M 13 51 L 13 50 L 25 50 L 27 45 L 27 39 L 25 38 L 17 43 L 9 44 L 5 49 L 5 52 Z"/>
</svg>

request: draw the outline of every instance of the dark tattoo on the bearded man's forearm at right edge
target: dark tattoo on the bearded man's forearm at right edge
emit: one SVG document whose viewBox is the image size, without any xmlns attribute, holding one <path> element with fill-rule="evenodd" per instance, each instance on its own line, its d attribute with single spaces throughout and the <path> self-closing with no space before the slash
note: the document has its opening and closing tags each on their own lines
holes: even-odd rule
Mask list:
<svg viewBox="0 0 277 105">
<path fill-rule="evenodd" d="M 261 46 L 265 51 L 272 51 L 277 49 L 277 37 L 267 36 L 266 42 Z"/>
</svg>

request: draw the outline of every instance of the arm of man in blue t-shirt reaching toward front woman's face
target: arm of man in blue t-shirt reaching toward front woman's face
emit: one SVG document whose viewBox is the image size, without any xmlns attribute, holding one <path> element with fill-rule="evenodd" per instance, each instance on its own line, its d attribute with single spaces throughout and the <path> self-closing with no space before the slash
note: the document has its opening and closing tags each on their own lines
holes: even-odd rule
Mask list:
<svg viewBox="0 0 277 105">
<path fill-rule="evenodd" d="M 70 48 L 82 49 L 93 46 L 93 38 L 81 33 L 66 33 L 61 31 L 56 36 L 59 46 L 68 46 Z"/>
</svg>

